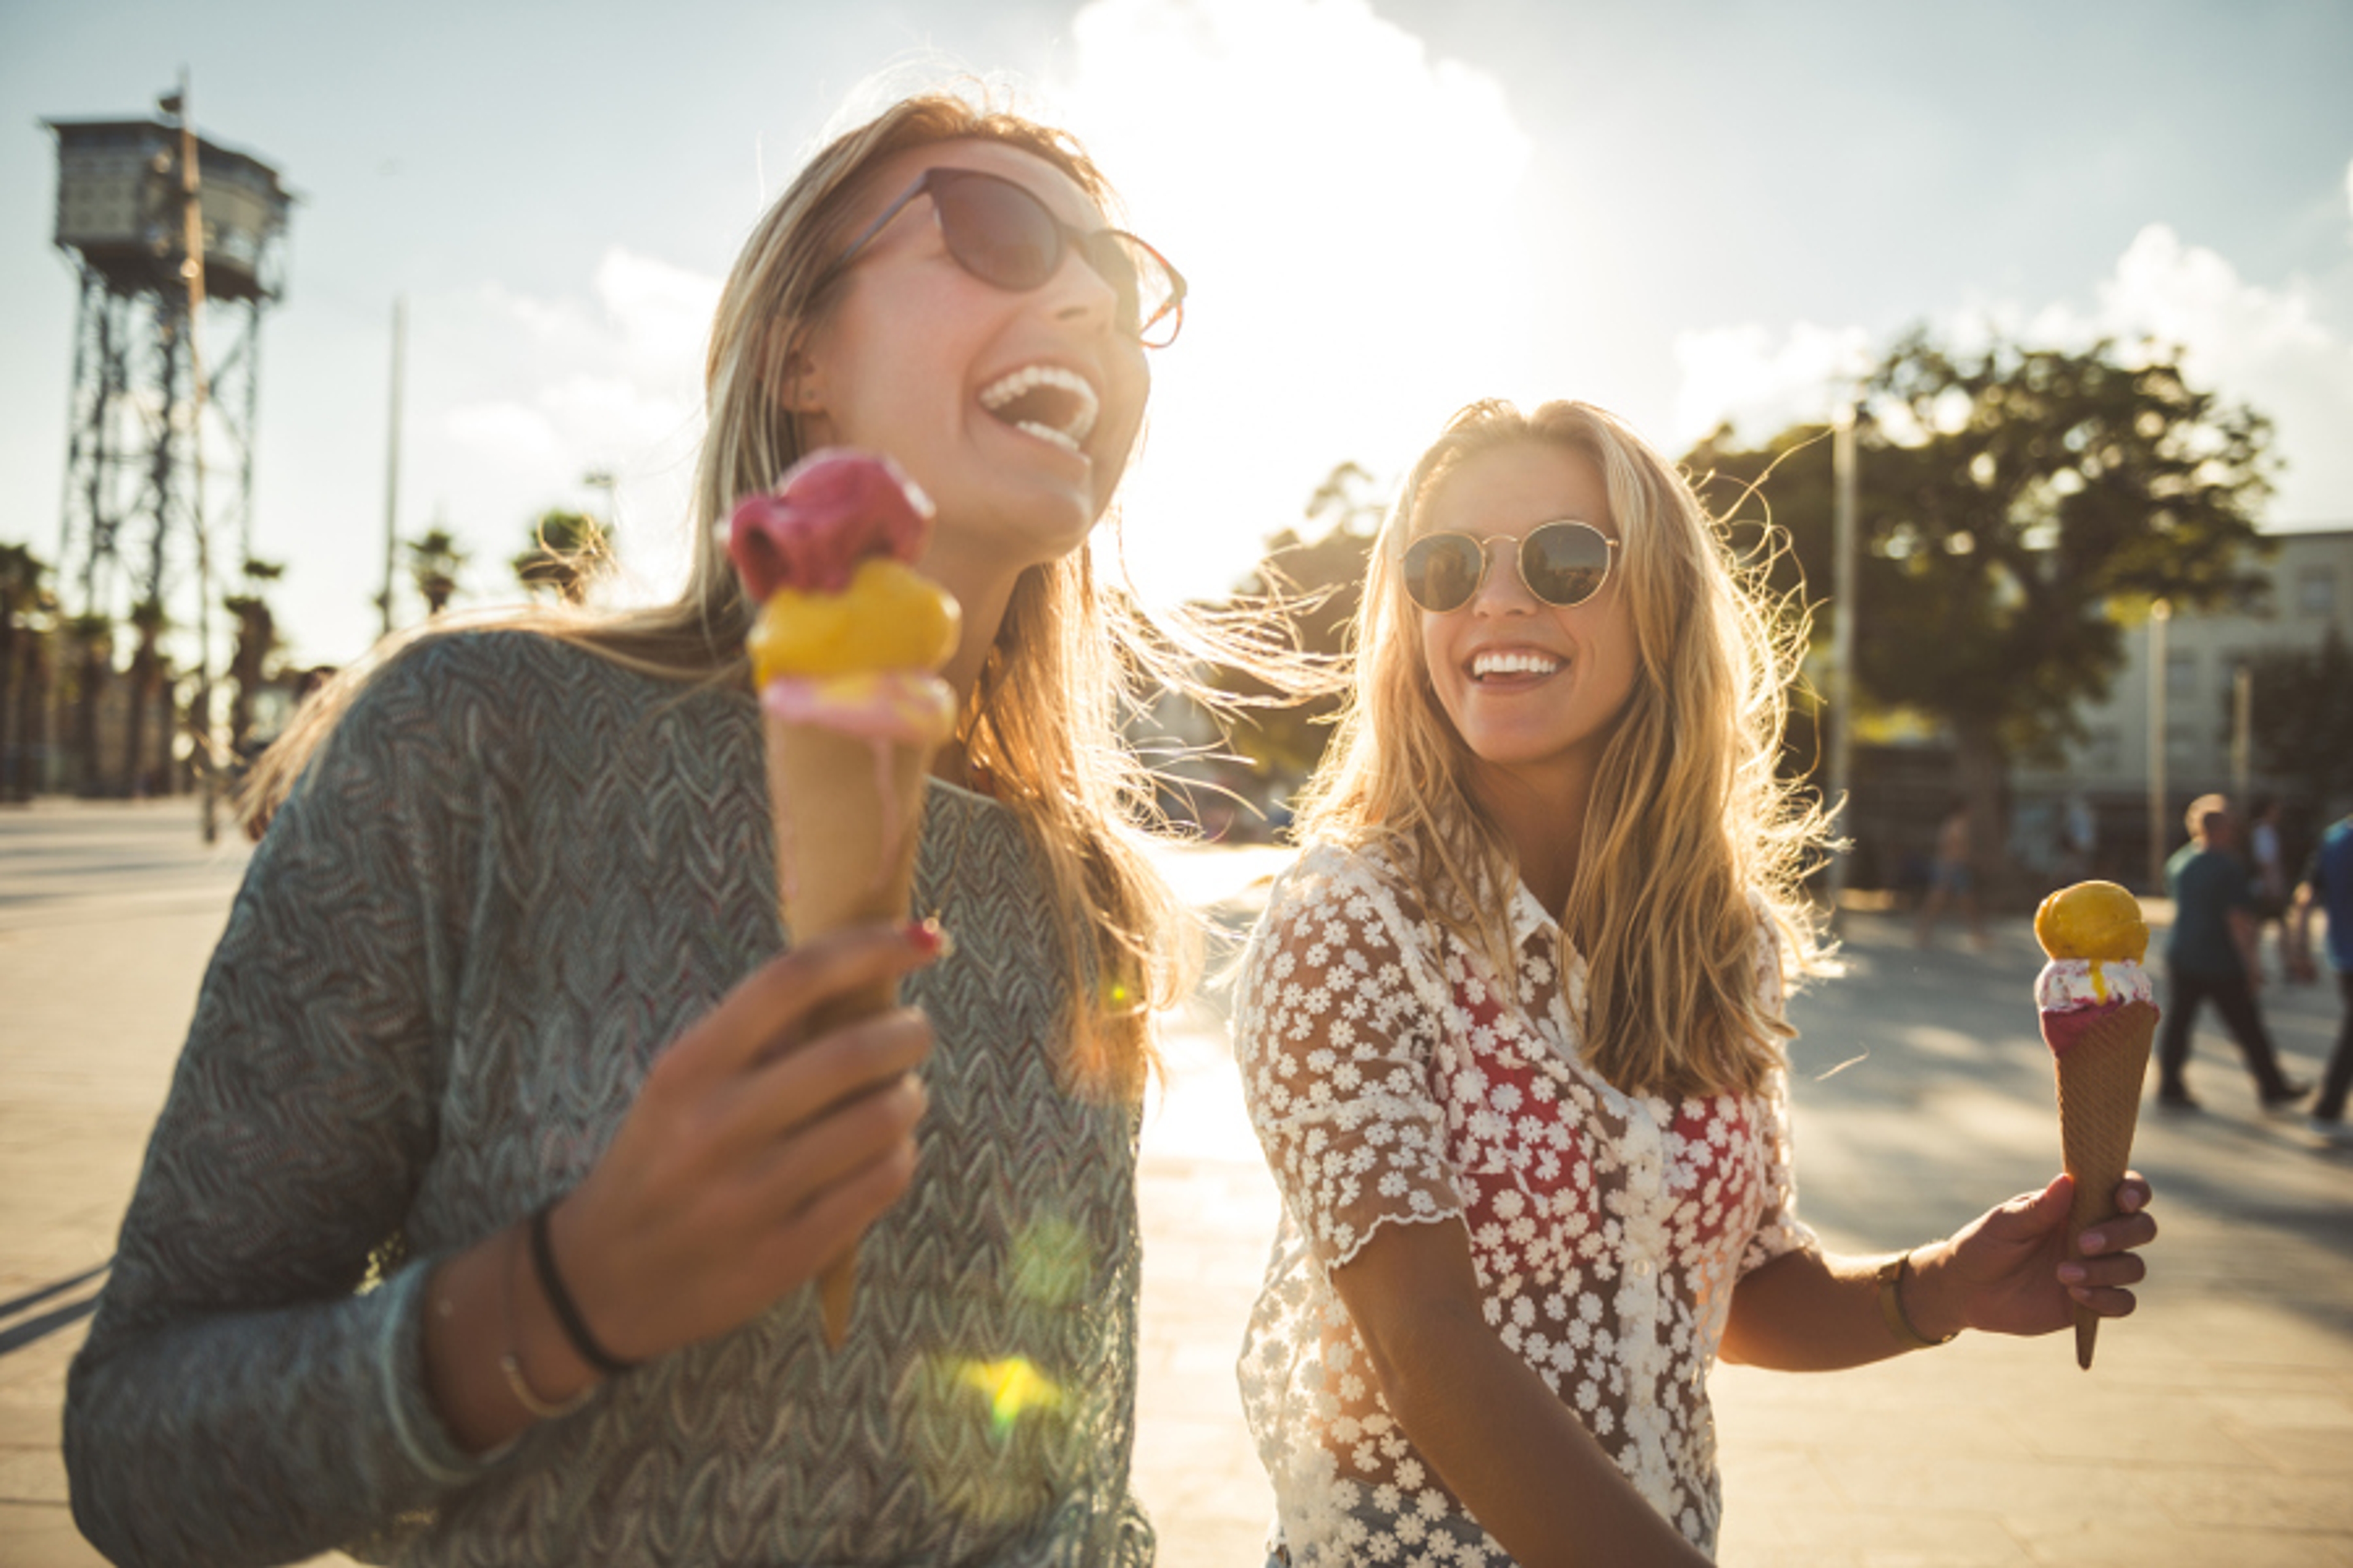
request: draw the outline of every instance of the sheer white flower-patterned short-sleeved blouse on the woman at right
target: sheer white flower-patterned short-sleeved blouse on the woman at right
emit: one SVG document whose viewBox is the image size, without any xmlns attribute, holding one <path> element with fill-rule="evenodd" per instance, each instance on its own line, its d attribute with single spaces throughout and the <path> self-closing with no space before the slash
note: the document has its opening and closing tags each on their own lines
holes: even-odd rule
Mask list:
<svg viewBox="0 0 2353 1568">
<path fill-rule="evenodd" d="M 1377 851 L 1311 849 L 1242 961 L 1242 1088 L 1282 1229 L 1242 1338 L 1242 1410 L 1297 1568 L 1511 1559 L 1395 1425 L 1329 1272 L 1381 1225 L 1461 1222 L 1487 1321 L 1706 1552 L 1720 1490 L 1706 1373 L 1732 1286 L 1814 1248 L 1788 1084 L 1680 1103 L 1579 1060 L 1560 926 L 1527 889 L 1518 973 L 1421 919 Z M 1760 985 L 1781 997 L 1774 947 Z"/>
</svg>

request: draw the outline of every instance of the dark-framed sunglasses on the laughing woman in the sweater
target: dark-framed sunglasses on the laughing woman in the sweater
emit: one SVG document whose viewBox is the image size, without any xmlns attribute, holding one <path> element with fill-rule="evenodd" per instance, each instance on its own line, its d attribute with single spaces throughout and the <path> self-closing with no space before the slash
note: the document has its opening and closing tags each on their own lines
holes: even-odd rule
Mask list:
<svg viewBox="0 0 2353 1568">
<path fill-rule="evenodd" d="M 1146 348 L 1167 348 L 1184 327 L 1184 275 L 1167 256 L 1118 228 L 1071 228 L 1045 202 L 998 174 L 979 169 L 925 169 L 882 216 L 866 226 L 828 277 L 847 268 L 882 228 L 918 195 L 932 197 L 939 235 L 955 266 L 998 289 L 1040 289 L 1061 270 L 1066 247 L 1111 284 L 1120 301 L 1120 327 Z"/>
</svg>

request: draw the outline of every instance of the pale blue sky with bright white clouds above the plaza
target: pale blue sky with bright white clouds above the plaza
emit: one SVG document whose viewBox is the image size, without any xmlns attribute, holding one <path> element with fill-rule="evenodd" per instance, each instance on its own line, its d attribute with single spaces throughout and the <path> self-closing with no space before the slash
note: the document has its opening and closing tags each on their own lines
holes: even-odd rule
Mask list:
<svg viewBox="0 0 2353 1568">
<path fill-rule="evenodd" d="M 1913 324 L 2179 343 L 2278 425 L 2266 527 L 2353 527 L 2337 0 L 0 0 L 0 541 L 47 559 L 75 282 L 40 120 L 184 68 L 299 195 L 252 548 L 304 663 L 376 632 L 395 299 L 400 536 L 456 534 L 489 604 L 536 512 L 609 501 L 616 592 L 668 597 L 734 249 L 828 125 L 953 73 L 1075 129 L 1193 282 L 1122 494 L 1151 597 L 1233 585 L 1337 463 L 1388 482 L 1475 397 L 1675 454 L 1819 418 Z"/>
</svg>

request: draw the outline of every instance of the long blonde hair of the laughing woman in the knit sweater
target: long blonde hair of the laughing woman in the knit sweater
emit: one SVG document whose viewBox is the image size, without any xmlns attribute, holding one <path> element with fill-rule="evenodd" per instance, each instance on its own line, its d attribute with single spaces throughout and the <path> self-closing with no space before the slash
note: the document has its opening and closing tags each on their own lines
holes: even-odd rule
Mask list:
<svg viewBox="0 0 2353 1568">
<path fill-rule="evenodd" d="M 1066 134 L 988 103 L 986 89 L 892 103 L 826 143 L 776 197 L 720 292 L 704 374 L 708 428 L 694 475 L 694 557 L 685 592 L 631 611 L 532 607 L 459 625 L 536 630 L 642 675 L 748 689 L 751 609 L 720 522 L 736 498 L 774 484 L 802 456 L 784 407 L 786 362 L 838 294 L 833 259 L 875 165 L 939 141 L 998 141 L 1042 158 L 1094 202 L 1111 186 Z M 285 799 L 374 670 L 442 625 L 381 644 L 362 668 L 308 701 L 245 792 L 254 823 Z M 1198 940 L 1186 907 L 1141 851 L 1158 823 L 1153 773 L 1120 741 L 1129 682 L 1174 675 L 1176 658 L 1132 595 L 1096 583 L 1089 550 L 1031 567 L 1014 585 L 958 738 L 976 776 L 1019 811 L 1054 891 L 1073 985 L 1073 1067 L 1089 1088 L 1132 1098 L 1155 1067 L 1148 1013 L 1191 987 Z M 1198 635 L 1179 637 L 1198 644 Z M 1179 677 L 1181 679 L 1181 677 Z M 1198 682 L 1184 682 L 1198 691 Z M 259 827 L 256 827 L 259 830 Z"/>
</svg>

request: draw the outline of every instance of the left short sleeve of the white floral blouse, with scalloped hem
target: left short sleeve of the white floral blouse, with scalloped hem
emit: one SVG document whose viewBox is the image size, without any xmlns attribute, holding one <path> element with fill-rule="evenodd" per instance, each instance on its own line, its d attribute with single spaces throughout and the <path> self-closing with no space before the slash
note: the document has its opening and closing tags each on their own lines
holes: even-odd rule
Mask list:
<svg viewBox="0 0 2353 1568">
<path fill-rule="evenodd" d="M 1464 1206 L 1431 1093 L 1431 964 L 1360 858 L 1313 851 L 1242 957 L 1235 1051 L 1252 1128 L 1315 1258 Z"/>
</svg>

